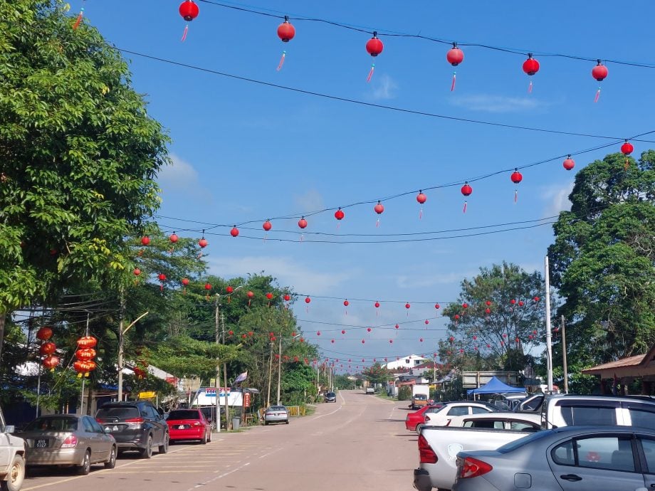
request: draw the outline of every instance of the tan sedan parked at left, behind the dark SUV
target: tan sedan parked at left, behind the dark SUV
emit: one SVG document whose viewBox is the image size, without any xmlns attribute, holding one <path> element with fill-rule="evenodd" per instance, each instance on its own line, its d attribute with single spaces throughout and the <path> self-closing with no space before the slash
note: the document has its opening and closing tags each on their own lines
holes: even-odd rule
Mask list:
<svg viewBox="0 0 655 491">
<path fill-rule="evenodd" d="M 26 441 L 28 467 L 75 467 L 78 474 L 87 475 L 93 464 L 104 463 L 108 469 L 116 465 L 116 440 L 90 416 L 41 416 L 17 435 Z"/>
</svg>

